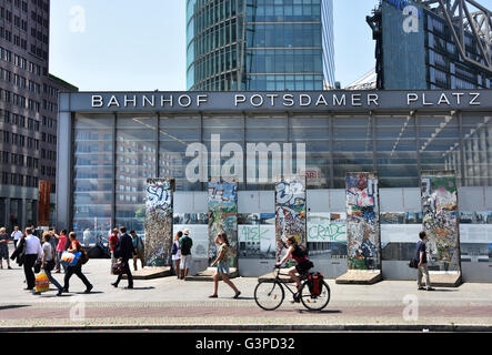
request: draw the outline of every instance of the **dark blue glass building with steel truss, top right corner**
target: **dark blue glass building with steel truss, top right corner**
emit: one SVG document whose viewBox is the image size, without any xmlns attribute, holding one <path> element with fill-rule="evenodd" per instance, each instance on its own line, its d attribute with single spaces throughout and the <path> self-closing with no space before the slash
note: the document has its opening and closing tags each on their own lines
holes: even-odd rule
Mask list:
<svg viewBox="0 0 492 355">
<path fill-rule="evenodd" d="M 388 1 L 368 19 L 376 40 L 378 89 L 490 89 L 492 73 L 463 60 L 445 19 L 413 6 L 420 11 L 418 32 L 405 32 L 408 16 Z M 480 60 L 474 37 L 465 31 L 464 39 L 468 55 Z"/>
</svg>

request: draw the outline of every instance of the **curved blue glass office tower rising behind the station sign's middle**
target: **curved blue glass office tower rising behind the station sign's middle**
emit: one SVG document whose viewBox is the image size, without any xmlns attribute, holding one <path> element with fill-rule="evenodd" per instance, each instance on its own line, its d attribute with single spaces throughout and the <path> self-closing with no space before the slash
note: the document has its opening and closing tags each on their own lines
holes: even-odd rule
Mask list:
<svg viewBox="0 0 492 355">
<path fill-rule="evenodd" d="M 188 0 L 189 90 L 334 85 L 332 0 Z"/>
</svg>

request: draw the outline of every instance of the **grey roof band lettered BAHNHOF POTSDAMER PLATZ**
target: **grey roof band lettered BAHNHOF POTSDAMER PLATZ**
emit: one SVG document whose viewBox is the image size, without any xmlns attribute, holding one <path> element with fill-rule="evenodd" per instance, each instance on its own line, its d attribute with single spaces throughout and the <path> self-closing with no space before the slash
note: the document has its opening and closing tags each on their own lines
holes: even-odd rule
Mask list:
<svg viewBox="0 0 492 355">
<path fill-rule="evenodd" d="M 492 91 L 78 93 L 78 110 L 461 110 L 492 109 Z"/>
</svg>

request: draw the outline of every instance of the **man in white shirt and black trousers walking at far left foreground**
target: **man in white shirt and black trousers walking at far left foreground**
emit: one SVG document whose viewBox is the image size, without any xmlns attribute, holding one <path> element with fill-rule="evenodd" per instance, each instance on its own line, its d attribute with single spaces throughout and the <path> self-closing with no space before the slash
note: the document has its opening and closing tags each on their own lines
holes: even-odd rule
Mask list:
<svg viewBox="0 0 492 355">
<path fill-rule="evenodd" d="M 28 284 L 24 290 L 32 291 L 36 286 L 36 276 L 32 267 L 42 257 L 41 243 L 37 236 L 32 235 L 32 229 L 26 229 L 26 237 L 21 240 L 10 258 L 13 260 L 17 256 L 20 257 L 18 262 L 24 268 L 26 283 Z"/>
</svg>

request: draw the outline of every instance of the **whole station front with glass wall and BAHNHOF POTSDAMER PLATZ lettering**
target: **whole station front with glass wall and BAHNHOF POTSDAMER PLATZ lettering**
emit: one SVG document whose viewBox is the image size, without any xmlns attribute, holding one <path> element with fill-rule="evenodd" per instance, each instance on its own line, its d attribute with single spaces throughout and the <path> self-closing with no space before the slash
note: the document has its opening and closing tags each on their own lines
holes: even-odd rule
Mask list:
<svg viewBox="0 0 492 355">
<path fill-rule="evenodd" d="M 367 265 L 349 255 L 358 248 L 348 244 L 348 173 L 375 173 L 380 246 L 371 263 L 383 278 L 413 280 L 408 262 L 429 226 L 423 173 L 445 171 L 456 192 L 453 263 L 464 282 L 490 282 L 491 118 L 488 90 L 64 93 L 57 224 L 89 229 L 93 242 L 119 225 L 143 235 L 148 179 L 173 179 L 173 232 L 190 230 L 200 271 L 210 252 L 210 182 L 233 181 L 234 263 L 241 275 L 259 276 L 275 262 L 279 182 L 302 175 L 310 258 L 335 278 Z M 431 270 L 443 270 L 444 248 Z"/>
</svg>

